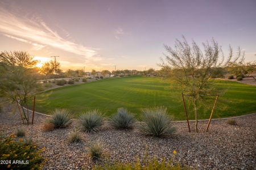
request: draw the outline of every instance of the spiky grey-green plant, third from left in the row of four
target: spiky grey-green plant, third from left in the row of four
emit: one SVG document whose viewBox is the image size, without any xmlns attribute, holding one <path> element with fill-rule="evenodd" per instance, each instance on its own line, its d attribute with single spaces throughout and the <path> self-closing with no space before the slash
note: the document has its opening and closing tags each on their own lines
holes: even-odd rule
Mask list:
<svg viewBox="0 0 256 170">
<path fill-rule="evenodd" d="M 134 117 L 125 108 L 118 108 L 117 114 L 112 117 L 112 124 L 118 129 L 132 128 Z"/>
</svg>

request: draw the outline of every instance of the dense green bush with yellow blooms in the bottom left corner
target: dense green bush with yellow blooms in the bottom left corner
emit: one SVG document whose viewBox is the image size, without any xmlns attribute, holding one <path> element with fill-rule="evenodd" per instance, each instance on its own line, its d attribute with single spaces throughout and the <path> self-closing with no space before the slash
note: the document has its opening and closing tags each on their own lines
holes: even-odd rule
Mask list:
<svg viewBox="0 0 256 170">
<path fill-rule="evenodd" d="M 42 151 L 36 148 L 36 145 L 26 138 L 0 137 L 0 160 L 6 160 L 7 164 L 1 164 L 0 169 L 42 169 L 44 158 Z M 23 161 L 15 163 L 16 160 Z"/>
</svg>

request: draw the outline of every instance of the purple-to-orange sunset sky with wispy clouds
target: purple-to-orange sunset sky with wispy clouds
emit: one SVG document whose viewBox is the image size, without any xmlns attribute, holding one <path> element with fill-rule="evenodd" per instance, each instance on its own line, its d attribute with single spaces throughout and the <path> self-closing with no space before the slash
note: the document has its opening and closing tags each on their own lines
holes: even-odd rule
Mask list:
<svg viewBox="0 0 256 170">
<path fill-rule="evenodd" d="M 0 1 L 0 51 L 26 50 L 39 66 L 59 56 L 63 70 L 158 70 L 163 45 L 183 35 L 254 61 L 256 1 Z"/>
</svg>

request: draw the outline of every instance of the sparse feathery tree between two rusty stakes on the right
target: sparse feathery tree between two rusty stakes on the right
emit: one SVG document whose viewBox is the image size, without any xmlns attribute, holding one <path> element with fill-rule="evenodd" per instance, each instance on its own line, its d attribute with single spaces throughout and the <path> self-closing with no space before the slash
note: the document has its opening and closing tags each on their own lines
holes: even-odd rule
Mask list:
<svg viewBox="0 0 256 170">
<path fill-rule="evenodd" d="M 240 58 L 243 59 L 244 53 L 238 48 L 237 57 L 233 57 L 233 50 L 230 47 L 229 56 L 224 58 L 221 47 L 212 39 L 212 42 L 203 43 L 203 52 L 200 46 L 192 41 L 190 45 L 185 37 L 183 41 L 176 40 L 174 48 L 164 45 L 166 61 L 160 64 L 163 68 L 170 68 L 172 78 L 174 78 L 182 88 L 183 92 L 192 100 L 193 112 L 196 120 L 197 129 L 197 107 L 200 99 L 209 95 L 218 95 L 214 88 L 213 81 L 209 81 L 214 68 L 226 67 Z"/>
</svg>

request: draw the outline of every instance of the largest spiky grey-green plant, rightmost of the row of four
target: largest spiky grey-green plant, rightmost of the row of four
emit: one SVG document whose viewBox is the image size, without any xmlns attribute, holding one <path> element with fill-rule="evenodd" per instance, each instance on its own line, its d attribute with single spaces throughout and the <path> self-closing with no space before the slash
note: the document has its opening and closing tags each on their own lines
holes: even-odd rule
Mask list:
<svg viewBox="0 0 256 170">
<path fill-rule="evenodd" d="M 175 128 L 172 127 L 172 120 L 167 115 L 166 107 L 146 108 L 142 109 L 142 112 L 144 122 L 139 126 L 139 130 L 143 134 L 164 137 L 174 133 Z"/>
</svg>

